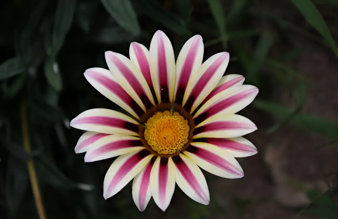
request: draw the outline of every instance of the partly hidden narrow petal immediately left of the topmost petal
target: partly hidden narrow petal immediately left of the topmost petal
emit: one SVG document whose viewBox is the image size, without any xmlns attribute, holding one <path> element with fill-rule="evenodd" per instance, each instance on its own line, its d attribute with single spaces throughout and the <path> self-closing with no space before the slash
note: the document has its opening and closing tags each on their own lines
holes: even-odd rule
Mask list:
<svg viewBox="0 0 338 219">
<path fill-rule="evenodd" d="M 147 81 L 147 84 L 150 88 L 153 98 L 156 100 L 156 94 L 154 86 L 152 85 L 150 68 L 149 68 L 149 51 L 148 49 L 140 43 L 132 42 L 129 47 L 129 56 L 131 62 L 133 62 L 142 72 L 144 78 Z"/>
</svg>

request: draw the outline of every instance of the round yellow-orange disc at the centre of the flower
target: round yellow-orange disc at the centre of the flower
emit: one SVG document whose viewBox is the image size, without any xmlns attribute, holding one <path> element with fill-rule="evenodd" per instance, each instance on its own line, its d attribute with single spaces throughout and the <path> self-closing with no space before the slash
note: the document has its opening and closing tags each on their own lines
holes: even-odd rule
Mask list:
<svg viewBox="0 0 338 219">
<path fill-rule="evenodd" d="M 144 139 L 159 154 L 175 154 L 188 142 L 188 121 L 177 112 L 157 112 L 145 125 Z"/>
</svg>

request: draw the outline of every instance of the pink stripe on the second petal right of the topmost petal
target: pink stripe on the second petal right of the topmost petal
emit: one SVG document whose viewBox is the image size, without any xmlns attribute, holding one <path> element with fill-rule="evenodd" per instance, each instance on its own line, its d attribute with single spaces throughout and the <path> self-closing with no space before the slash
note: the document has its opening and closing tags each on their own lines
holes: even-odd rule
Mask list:
<svg viewBox="0 0 338 219">
<path fill-rule="evenodd" d="M 219 56 L 215 62 L 213 62 L 210 67 L 203 73 L 201 78 L 196 82 L 194 88 L 192 89 L 190 96 L 184 106 L 184 108 L 190 112 L 191 107 L 195 101 L 195 99 L 199 96 L 202 90 L 206 87 L 210 79 L 214 76 L 217 69 L 222 65 L 224 60 L 228 57 L 228 53 L 224 53 Z"/>
</svg>

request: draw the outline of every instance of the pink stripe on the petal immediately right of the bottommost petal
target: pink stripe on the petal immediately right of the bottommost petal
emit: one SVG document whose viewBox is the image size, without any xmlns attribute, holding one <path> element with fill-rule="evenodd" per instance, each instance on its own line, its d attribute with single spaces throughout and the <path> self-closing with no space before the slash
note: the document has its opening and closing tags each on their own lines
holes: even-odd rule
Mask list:
<svg viewBox="0 0 338 219">
<path fill-rule="evenodd" d="M 204 202 L 209 203 L 208 195 L 203 192 L 203 189 L 188 165 L 179 156 L 176 156 L 173 160 L 177 170 L 182 174 L 189 186 Z"/>
</svg>

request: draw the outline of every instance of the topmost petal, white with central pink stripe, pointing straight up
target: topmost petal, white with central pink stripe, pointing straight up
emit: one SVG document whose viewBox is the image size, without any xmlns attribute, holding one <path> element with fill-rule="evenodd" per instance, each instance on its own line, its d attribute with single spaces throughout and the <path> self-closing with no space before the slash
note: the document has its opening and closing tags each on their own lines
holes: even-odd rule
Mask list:
<svg viewBox="0 0 338 219">
<path fill-rule="evenodd" d="M 159 103 L 173 102 L 175 90 L 175 57 L 168 36 L 158 30 L 150 43 L 150 75 Z"/>
</svg>

